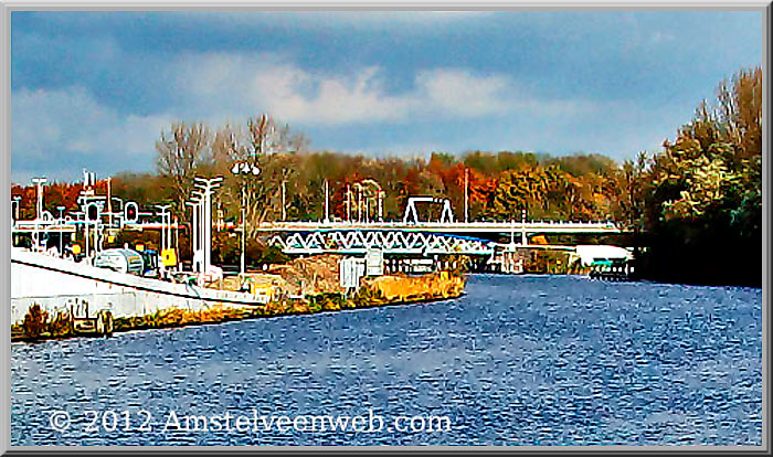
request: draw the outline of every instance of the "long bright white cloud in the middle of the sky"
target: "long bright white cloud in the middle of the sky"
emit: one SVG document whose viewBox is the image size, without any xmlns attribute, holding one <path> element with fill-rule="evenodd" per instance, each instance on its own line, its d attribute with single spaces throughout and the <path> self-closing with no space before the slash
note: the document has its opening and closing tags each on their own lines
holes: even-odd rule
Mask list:
<svg viewBox="0 0 773 457">
<path fill-rule="evenodd" d="M 267 110 L 287 123 L 342 125 L 476 118 L 540 103 L 506 75 L 434 68 L 402 92 L 385 88 L 379 66 L 317 73 L 273 55 L 190 54 L 174 64 L 177 98 L 186 111 L 224 118 Z"/>
</svg>

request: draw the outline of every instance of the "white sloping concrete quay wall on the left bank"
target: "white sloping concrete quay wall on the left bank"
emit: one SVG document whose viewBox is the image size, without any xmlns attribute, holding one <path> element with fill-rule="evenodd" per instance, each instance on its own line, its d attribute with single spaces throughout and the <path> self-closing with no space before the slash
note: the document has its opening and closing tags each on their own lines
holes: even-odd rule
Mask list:
<svg viewBox="0 0 773 457">
<path fill-rule="evenodd" d="M 152 315 L 161 309 L 199 311 L 215 305 L 260 305 L 250 294 L 207 289 L 125 275 L 84 263 L 12 249 L 11 323 L 22 323 L 33 304 L 54 316 L 88 304 L 88 316 L 109 309 L 114 317 Z"/>
</svg>

